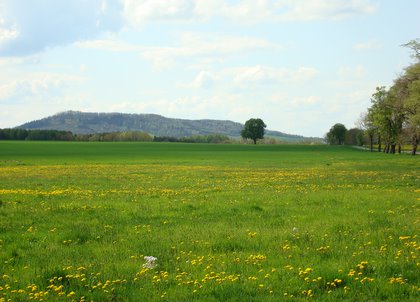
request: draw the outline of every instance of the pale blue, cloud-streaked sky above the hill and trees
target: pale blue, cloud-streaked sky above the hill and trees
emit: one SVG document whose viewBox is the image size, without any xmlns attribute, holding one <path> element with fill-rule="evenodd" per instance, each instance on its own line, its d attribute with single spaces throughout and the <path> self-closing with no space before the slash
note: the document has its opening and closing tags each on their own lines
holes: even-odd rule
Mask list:
<svg viewBox="0 0 420 302">
<path fill-rule="evenodd" d="M 413 63 L 418 0 L 0 0 L 0 128 L 67 110 L 322 137 Z"/>
</svg>

